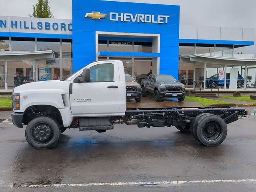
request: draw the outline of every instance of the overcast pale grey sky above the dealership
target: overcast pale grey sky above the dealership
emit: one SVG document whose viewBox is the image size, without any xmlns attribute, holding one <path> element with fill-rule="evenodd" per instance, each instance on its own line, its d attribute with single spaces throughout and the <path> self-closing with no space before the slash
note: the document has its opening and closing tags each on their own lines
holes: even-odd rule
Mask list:
<svg viewBox="0 0 256 192">
<path fill-rule="evenodd" d="M 156 0 L 139 1 L 156 3 Z M 38 0 L 0 0 L 0 15 L 27 17 L 36 2 Z M 157 3 L 180 5 L 181 25 L 256 28 L 256 0 L 157 0 Z M 72 0 L 50 0 L 50 7 L 54 18 L 72 18 Z M 256 54 L 254 46 L 242 51 Z"/>
</svg>

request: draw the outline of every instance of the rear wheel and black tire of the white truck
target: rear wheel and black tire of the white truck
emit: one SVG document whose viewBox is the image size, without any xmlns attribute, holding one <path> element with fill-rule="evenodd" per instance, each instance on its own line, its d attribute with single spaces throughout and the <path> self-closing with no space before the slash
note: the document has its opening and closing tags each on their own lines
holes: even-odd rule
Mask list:
<svg viewBox="0 0 256 192">
<path fill-rule="evenodd" d="M 226 122 L 217 115 L 202 116 L 198 121 L 196 135 L 205 146 L 221 144 L 228 133 Z"/>
</svg>

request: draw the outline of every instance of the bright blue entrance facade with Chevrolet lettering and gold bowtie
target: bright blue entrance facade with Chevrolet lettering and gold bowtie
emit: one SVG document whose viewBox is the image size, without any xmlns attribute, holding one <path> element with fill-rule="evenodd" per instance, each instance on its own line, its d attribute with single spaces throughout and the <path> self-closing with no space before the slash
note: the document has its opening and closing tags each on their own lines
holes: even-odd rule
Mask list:
<svg viewBox="0 0 256 192">
<path fill-rule="evenodd" d="M 103 18 L 88 17 L 93 13 L 96 15 L 96 12 L 102 14 Z M 152 58 L 152 65 L 160 64 L 158 73 L 178 77 L 179 6 L 74 0 L 72 14 L 73 61 L 76 63 L 76 66 L 73 66 L 74 71 L 82 68 L 84 64 L 97 60 L 98 54 L 98 56 Z M 99 32 L 98 38 L 96 32 Z M 153 34 L 156 36 L 152 36 Z M 152 42 L 152 52 L 99 51 L 96 53 L 97 40 L 149 41 Z"/>
</svg>

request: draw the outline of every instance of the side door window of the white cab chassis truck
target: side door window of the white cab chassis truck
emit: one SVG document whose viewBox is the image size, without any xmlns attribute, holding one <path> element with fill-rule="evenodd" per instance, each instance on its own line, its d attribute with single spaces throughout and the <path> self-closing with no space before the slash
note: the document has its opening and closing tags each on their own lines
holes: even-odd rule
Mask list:
<svg viewBox="0 0 256 192">
<path fill-rule="evenodd" d="M 114 81 L 114 65 L 111 63 L 98 64 L 90 68 L 91 82 Z"/>
</svg>

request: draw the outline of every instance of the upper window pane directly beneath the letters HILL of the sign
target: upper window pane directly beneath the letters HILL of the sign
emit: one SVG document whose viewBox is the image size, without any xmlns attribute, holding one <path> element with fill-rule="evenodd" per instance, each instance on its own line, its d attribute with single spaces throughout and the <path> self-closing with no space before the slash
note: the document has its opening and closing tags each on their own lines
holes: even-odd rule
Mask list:
<svg viewBox="0 0 256 192">
<path fill-rule="evenodd" d="M 35 51 L 35 38 L 12 37 L 12 51 Z"/>
</svg>

